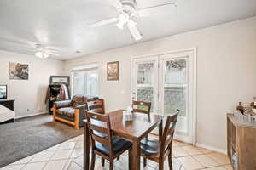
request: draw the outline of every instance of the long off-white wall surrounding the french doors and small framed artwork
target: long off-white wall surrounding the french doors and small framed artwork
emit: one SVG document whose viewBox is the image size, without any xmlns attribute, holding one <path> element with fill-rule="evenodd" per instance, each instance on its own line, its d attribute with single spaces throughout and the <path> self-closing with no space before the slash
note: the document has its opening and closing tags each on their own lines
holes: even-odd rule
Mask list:
<svg viewBox="0 0 256 170">
<path fill-rule="evenodd" d="M 117 37 L 113 37 L 117 38 Z M 197 48 L 197 143 L 226 149 L 226 116 L 239 101 L 256 95 L 256 17 L 221 26 L 141 42 L 98 54 L 70 59 L 73 65 L 98 62 L 100 95 L 107 111 L 125 108 L 130 102 L 131 56 Z M 106 65 L 119 61 L 119 81 L 107 82 Z"/>
</svg>

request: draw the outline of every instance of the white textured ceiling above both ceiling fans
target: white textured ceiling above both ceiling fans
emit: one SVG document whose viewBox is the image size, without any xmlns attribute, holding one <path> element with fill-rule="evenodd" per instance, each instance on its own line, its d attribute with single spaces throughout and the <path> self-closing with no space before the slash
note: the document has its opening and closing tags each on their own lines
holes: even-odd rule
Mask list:
<svg viewBox="0 0 256 170">
<path fill-rule="evenodd" d="M 138 8 L 172 2 L 137 0 Z M 143 40 L 175 35 L 256 15 L 255 0 L 175 0 L 152 8 L 137 19 Z M 0 49 L 34 54 L 34 44 L 55 48 L 55 59 L 71 59 L 136 43 L 130 32 L 115 25 L 90 28 L 98 20 L 117 16 L 107 0 L 1 0 Z M 77 54 L 76 51 L 81 53 Z"/>
</svg>

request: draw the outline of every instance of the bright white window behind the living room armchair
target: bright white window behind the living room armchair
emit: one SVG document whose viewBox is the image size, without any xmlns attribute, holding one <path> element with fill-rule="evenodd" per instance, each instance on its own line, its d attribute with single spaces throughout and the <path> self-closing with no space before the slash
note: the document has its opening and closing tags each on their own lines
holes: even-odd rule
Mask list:
<svg viewBox="0 0 256 170">
<path fill-rule="evenodd" d="M 98 96 L 98 69 L 96 65 L 84 65 L 74 68 L 73 95 Z"/>
</svg>

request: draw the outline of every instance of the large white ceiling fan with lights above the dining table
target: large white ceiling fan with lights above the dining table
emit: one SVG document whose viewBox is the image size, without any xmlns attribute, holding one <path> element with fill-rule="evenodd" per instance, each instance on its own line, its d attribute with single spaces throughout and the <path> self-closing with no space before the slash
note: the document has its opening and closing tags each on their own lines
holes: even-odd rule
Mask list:
<svg viewBox="0 0 256 170">
<path fill-rule="evenodd" d="M 176 3 L 164 3 L 160 5 L 156 5 L 153 7 L 147 7 L 147 8 L 137 8 L 137 2 L 136 0 L 109 0 L 110 3 L 118 10 L 119 16 L 110 18 L 107 20 L 101 20 L 96 23 L 88 25 L 89 27 L 98 27 L 98 26 L 105 26 L 108 24 L 116 23 L 116 26 L 123 30 L 125 26 L 129 29 L 131 32 L 131 36 L 136 40 L 141 40 L 142 34 L 137 28 L 137 23 L 134 21 L 134 19 L 137 19 L 141 16 L 143 16 L 143 11 L 147 10 L 149 8 L 158 8 L 166 5 L 175 5 Z"/>
</svg>

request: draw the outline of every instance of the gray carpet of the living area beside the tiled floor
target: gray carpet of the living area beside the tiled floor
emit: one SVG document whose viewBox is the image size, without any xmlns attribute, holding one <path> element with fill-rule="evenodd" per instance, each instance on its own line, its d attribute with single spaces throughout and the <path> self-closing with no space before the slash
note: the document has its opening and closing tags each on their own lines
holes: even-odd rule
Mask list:
<svg viewBox="0 0 256 170">
<path fill-rule="evenodd" d="M 83 133 L 52 116 L 40 115 L 0 125 L 0 168 L 26 156 L 31 156 Z"/>
</svg>

